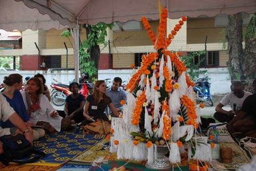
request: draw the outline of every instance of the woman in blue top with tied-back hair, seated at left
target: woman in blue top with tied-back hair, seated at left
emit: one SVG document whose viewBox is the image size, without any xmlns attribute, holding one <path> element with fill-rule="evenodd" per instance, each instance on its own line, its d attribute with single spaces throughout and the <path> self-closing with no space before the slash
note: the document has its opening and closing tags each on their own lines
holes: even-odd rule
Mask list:
<svg viewBox="0 0 256 171">
<path fill-rule="evenodd" d="M 6 89 L 3 92 L 3 96 L 9 102 L 10 106 L 19 114 L 19 117 L 26 123 L 27 126 L 34 126 L 34 123 L 30 121 L 28 117 L 26 107 L 24 105 L 22 95 L 20 94 L 20 89 L 22 88 L 22 76 L 19 74 L 11 74 L 5 76 L 3 83 L 6 85 Z M 14 127 L 13 123 L 9 120 L 1 123 L 2 128 Z M 39 138 L 45 135 L 43 129 L 34 129 L 33 131 L 33 140 L 38 140 Z"/>
</svg>

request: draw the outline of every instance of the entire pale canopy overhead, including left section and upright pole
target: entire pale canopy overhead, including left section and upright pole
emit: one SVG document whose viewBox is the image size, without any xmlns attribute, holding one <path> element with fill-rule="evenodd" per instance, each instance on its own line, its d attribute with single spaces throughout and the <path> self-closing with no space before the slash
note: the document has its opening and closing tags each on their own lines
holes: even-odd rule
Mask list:
<svg viewBox="0 0 256 171">
<path fill-rule="evenodd" d="M 255 0 L 160 0 L 168 17 L 256 12 Z M 26 6 L 24 6 L 26 5 Z M 79 78 L 79 24 L 159 18 L 158 0 L 0 0 L 0 29 L 74 28 L 75 79 Z"/>
</svg>

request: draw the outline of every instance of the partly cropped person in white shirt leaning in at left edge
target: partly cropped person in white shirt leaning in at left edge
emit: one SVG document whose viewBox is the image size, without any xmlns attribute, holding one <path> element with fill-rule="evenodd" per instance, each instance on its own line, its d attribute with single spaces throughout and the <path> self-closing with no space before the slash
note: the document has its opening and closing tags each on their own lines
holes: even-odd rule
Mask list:
<svg viewBox="0 0 256 171">
<path fill-rule="evenodd" d="M 4 135 L 16 135 L 23 134 L 26 139 L 32 144 L 33 131 L 31 127 L 26 126 L 18 114 L 11 108 L 9 102 L 6 101 L 5 97 L 0 93 L 0 122 L 9 121 L 13 123 L 15 127 L 2 129 L 0 127 L 0 137 Z M 3 152 L 2 142 L 0 142 L 0 153 Z"/>
</svg>

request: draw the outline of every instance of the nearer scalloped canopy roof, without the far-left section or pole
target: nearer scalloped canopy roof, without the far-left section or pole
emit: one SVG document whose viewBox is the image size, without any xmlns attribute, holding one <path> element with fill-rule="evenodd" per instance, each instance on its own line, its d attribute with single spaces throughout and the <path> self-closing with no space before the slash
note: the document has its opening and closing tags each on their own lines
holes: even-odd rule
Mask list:
<svg viewBox="0 0 256 171">
<path fill-rule="evenodd" d="M 41 14 L 59 20 L 62 25 L 75 27 L 98 22 L 127 22 L 141 20 L 142 16 L 159 18 L 158 0 L 15 0 L 22 1 L 30 8 L 37 8 Z M 169 18 L 185 15 L 196 18 L 200 15 L 236 14 L 256 12 L 255 0 L 160 0 L 168 8 Z"/>
</svg>

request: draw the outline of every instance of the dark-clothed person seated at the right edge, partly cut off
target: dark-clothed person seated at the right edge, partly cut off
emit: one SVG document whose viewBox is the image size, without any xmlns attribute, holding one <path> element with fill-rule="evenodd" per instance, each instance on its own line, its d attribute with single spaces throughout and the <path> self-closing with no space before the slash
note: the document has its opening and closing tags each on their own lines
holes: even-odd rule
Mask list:
<svg viewBox="0 0 256 171">
<path fill-rule="evenodd" d="M 256 80 L 253 82 L 253 88 L 254 94 L 243 101 L 241 110 L 227 125 L 233 136 L 256 138 Z"/>
</svg>

